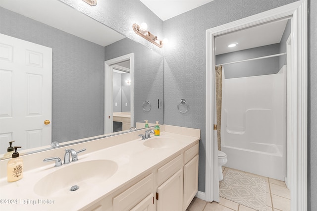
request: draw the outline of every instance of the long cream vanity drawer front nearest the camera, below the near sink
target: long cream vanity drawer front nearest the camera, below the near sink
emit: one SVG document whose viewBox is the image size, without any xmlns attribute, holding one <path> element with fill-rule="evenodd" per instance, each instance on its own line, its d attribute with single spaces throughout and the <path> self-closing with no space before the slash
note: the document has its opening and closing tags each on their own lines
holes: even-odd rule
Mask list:
<svg viewBox="0 0 317 211">
<path fill-rule="evenodd" d="M 113 198 L 113 210 L 130 210 L 146 198 L 153 190 L 153 173 Z"/>
</svg>

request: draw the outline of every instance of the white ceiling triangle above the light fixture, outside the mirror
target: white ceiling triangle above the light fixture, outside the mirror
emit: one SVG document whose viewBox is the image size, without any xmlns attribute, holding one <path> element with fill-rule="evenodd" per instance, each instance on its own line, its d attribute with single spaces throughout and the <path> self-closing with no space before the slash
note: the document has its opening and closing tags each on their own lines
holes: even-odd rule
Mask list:
<svg viewBox="0 0 317 211">
<path fill-rule="evenodd" d="M 140 0 L 162 21 L 180 15 L 213 0 Z"/>
</svg>

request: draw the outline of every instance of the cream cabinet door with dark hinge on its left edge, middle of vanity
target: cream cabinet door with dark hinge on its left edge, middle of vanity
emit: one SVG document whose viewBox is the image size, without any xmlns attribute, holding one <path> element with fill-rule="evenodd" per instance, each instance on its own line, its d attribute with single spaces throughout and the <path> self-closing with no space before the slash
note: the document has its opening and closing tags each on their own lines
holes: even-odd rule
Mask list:
<svg viewBox="0 0 317 211">
<path fill-rule="evenodd" d="M 179 169 L 158 187 L 157 210 L 183 210 L 183 169 Z"/>
</svg>

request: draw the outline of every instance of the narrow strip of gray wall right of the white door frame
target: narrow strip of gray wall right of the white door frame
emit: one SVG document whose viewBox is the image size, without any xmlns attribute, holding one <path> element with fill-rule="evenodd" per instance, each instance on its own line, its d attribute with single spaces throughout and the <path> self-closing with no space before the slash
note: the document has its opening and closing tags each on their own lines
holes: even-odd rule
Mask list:
<svg viewBox="0 0 317 211">
<path fill-rule="evenodd" d="M 308 210 L 317 211 L 317 1 L 309 0 Z"/>
</svg>

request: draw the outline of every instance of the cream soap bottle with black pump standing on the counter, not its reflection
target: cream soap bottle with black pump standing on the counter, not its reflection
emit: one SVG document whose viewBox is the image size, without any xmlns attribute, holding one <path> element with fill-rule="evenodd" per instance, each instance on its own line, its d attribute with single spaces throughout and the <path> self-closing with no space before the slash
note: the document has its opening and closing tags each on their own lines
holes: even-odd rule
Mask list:
<svg viewBox="0 0 317 211">
<path fill-rule="evenodd" d="M 21 147 L 14 147 L 14 153 L 12 154 L 12 159 L 8 161 L 7 164 L 7 180 L 8 182 L 15 182 L 23 177 L 23 159 L 19 157 L 17 149 Z"/>
</svg>

